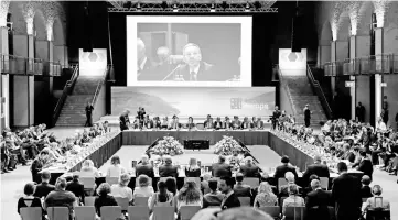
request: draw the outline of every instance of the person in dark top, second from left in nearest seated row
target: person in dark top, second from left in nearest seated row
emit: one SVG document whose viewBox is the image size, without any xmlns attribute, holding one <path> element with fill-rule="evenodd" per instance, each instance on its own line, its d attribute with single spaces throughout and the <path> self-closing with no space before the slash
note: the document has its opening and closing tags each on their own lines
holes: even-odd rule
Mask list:
<svg viewBox="0 0 398 220">
<path fill-rule="evenodd" d="M 44 209 L 49 207 L 67 207 L 69 220 L 74 219 L 74 207 L 77 206 L 76 197 L 72 191 L 66 191 L 66 179 L 58 177 L 55 183 L 55 190 L 51 191 L 44 200 Z"/>
</svg>

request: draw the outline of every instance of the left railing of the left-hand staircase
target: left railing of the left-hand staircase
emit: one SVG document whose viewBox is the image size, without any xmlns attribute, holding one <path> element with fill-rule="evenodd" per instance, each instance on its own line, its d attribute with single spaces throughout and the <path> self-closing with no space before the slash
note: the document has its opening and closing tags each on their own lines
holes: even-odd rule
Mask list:
<svg viewBox="0 0 398 220">
<path fill-rule="evenodd" d="M 72 77 L 71 77 L 69 80 L 66 81 L 66 84 L 64 86 L 64 89 L 62 91 L 62 95 L 61 95 L 61 97 L 60 97 L 60 99 L 56 102 L 56 106 L 54 108 L 53 118 L 52 118 L 53 127 L 55 127 L 56 120 L 58 120 L 58 117 L 61 114 L 62 107 L 65 103 L 66 97 L 72 94 L 73 88 L 74 88 L 74 86 L 75 86 L 75 84 L 77 81 L 78 75 L 79 75 L 77 64 L 76 65 L 71 65 L 71 67 L 74 69 L 73 74 L 72 74 Z"/>
</svg>

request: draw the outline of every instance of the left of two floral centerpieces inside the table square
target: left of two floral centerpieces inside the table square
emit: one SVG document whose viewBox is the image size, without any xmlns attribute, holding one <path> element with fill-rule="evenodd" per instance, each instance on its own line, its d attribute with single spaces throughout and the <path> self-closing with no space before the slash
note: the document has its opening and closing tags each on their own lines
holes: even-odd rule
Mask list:
<svg viewBox="0 0 398 220">
<path fill-rule="evenodd" d="M 173 136 L 163 136 L 155 146 L 151 150 L 152 154 L 157 155 L 180 155 L 183 154 L 183 146 Z"/>
</svg>

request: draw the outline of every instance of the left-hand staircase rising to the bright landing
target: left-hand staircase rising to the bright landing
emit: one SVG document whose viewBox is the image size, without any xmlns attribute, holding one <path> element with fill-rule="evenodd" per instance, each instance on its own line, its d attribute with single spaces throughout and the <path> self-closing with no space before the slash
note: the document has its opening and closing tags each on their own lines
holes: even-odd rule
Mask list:
<svg viewBox="0 0 398 220">
<path fill-rule="evenodd" d="M 79 76 L 72 95 L 67 96 L 56 127 L 83 127 L 86 122 L 85 108 L 92 102 L 98 84 L 104 76 Z M 94 103 L 93 103 L 94 105 Z"/>
</svg>

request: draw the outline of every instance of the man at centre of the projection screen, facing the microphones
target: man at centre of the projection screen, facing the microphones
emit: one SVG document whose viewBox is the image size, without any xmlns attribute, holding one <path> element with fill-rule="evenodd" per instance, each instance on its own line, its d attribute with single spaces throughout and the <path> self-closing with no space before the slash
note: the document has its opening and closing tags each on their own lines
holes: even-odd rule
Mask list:
<svg viewBox="0 0 398 220">
<path fill-rule="evenodd" d="M 185 81 L 213 81 L 214 66 L 202 62 L 202 52 L 198 45 L 189 43 L 183 48 L 184 63 L 175 69 L 175 75 L 182 76 Z"/>
</svg>

